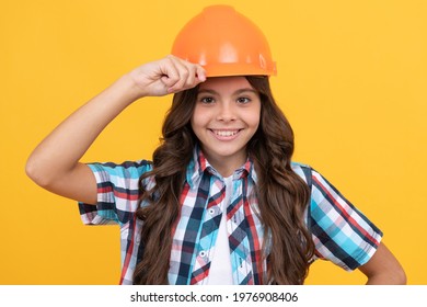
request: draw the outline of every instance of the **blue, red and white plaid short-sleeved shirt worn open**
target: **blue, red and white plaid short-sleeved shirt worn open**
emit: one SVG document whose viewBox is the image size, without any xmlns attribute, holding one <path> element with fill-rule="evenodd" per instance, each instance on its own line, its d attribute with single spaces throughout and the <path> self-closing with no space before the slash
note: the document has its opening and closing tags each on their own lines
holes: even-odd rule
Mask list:
<svg viewBox="0 0 427 307">
<path fill-rule="evenodd" d="M 152 169 L 151 162 L 92 163 L 89 167 L 97 182 L 97 204 L 80 203 L 81 218 L 88 225 L 120 226 L 119 283 L 132 284 L 138 254 L 141 254 L 142 223 L 135 216 L 138 208 L 138 181 L 142 173 Z M 319 172 L 299 163 L 292 163 L 292 169 L 311 186 L 305 223 L 315 243 L 313 260 L 330 260 L 348 271 L 366 263 L 374 253 L 382 232 Z M 150 178 L 143 184 L 150 189 L 154 181 Z M 254 166 L 247 160 L 234 172 L 231 202 L 224 206 L 234 284 L 267 283 L 267 266 L 262 254 L 264 232 L 258 218 L 255 184 Z M 196 148 L 187 166 L 180 219 L 173 234 L 170 284 L 207 284 L 224 192 L 222 177 Z"/>
</svg>

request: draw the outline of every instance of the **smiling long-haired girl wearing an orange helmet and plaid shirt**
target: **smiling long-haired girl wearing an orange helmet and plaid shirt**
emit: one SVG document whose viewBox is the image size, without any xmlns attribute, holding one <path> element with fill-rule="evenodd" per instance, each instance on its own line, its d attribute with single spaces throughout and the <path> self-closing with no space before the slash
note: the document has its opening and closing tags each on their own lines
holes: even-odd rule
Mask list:
<svg viewBox="0 0 427 307">
<path fill-rule="evenodd" d="M 197 48 L 219 16 L 244 27 L 226 33 L 215 23 L 221 37 L 238 29 L 239 39 L 265 45 L 258 30 L 230 8 L 200 15 L 186 31 L 204 35 L 181 33 L 180 57 L 123 76 L 49 134 L 28 158 L 30 178 L 79 201 L 85 224 L 119 224 L 120 284 L 302 284 L 318 258 L 359 269 L 368 284 L 404 284 L 382 232 L 319 172 L 291 162 L 293 134 L 269 88 L 268 50 L 244 64 L 228 53 L 224 64 Z M 252 52 L 235 37 L 227 48 Z M 203 59 L 180 54 L 180 44 Z M 132 102 L 170 93 L 152 162 L 80 162 Z"/>
</svg>

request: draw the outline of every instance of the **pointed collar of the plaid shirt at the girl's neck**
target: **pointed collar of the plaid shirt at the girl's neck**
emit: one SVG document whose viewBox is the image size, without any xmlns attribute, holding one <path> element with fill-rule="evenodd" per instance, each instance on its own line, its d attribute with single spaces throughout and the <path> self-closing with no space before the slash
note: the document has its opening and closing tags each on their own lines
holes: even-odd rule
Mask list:
<svg viewBox="0 0 427 307">
<path fill-rule="evenodd" d="M 203 150 L 198 145 L 194 147 L 193 157 L 187 166 L 186 179 L 191 187 L 199 182 L 201 175 L 208 172 L 211 175 L 222 179 L 222 175 L 209 163 L 206 159 Z M 257 181 L 254 163 L 251 158 L 247 158 L 246 162 L 236 169 L 233 173 L 233 180 L 239 180 L 249 177 L 254 183 Z"/>
</svg>

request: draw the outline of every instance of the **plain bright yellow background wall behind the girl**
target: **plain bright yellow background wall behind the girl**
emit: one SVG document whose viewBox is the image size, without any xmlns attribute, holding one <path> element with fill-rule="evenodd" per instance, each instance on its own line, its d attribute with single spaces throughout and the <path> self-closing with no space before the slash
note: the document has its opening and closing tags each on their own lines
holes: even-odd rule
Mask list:
<svg viewBox="0 0 427 307">
<path fill-rule="evenodd" d="M 120 75 L 170 52 L 217 1 L 0 1 L 0 284 L 117 284 L 119 230 L 31 182 L 31 150 Z M 409 284 L 427 284 L 427 2 L 222 1 L 268 37 L 295 160 L 322 172 L 385 234 Z M 126 110 L 84 161 L 151 158 L 170 96 Z M 360 284 L 324 261 L 308 284 Z"/>
</svg>

